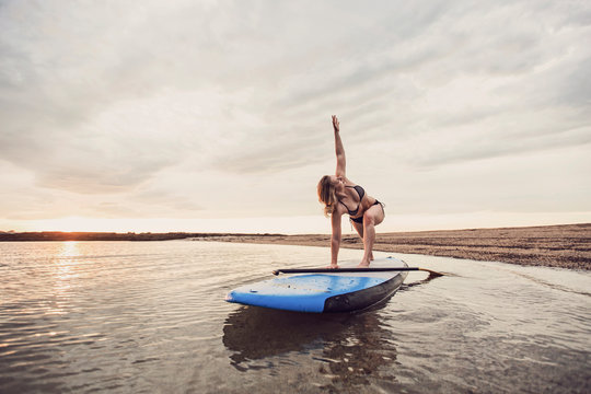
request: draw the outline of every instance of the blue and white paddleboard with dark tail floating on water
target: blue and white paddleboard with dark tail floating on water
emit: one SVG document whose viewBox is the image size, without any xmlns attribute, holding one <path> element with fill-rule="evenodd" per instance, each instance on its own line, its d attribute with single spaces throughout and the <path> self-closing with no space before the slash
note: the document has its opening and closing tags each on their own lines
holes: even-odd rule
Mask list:
<svg viewBox="0 0 591 394">
<path fill-rule="evenodd" d="M 339 263 L 354 268 L 357 263 Z M 407 267 L 402 259 L 387 257 L 371 263 L 370 268 Z M 408 273 L 326 273 L 281 275 L 244 285 L 228 293 L 225 301 L 297 312 L 351 312 L 372 306 L 401 287 Z"/>
</svg>

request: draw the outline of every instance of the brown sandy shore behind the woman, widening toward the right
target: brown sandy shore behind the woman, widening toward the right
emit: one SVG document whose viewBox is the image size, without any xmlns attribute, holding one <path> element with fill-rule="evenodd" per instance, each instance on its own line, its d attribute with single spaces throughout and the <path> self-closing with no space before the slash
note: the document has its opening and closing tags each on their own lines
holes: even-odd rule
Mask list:
<svg viewBox="0 0 591 394">
<path fill-rule="evenodd" d="M 329 246 L 329 235 L 220 235 L 197 240 Z M 341 247 L 362 248 L 357 235 Z M 505 229 L 378 233 L 375 251 L 503 262 L 528 266 L 591 269 L 591 223 Z"/>
</svg>

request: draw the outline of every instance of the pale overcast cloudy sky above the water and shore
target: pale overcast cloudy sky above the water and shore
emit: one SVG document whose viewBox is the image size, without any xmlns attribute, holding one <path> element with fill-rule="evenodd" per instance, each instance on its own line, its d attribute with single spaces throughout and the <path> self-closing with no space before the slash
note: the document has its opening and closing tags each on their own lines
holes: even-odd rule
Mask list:
<svg viewBox="0 0 591 394">
<path fill-rule="evenodd" d="M 589 1 L 0 1 L 0 230 L 591 221 Z M 346 227 L 347 232 L 349 229 Z"/>
</svg>

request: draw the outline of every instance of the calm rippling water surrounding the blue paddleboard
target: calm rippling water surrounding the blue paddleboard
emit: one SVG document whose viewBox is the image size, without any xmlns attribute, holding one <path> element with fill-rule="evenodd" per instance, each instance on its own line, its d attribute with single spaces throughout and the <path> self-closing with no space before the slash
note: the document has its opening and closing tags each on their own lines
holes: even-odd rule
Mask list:
<svg viewBox="0 0 591 394">
<path fill-rule="evenodd" d="M 0 243 L 0 392 L 591 391 L 591 274 L 395 256 L 453 276 L 410 273 L 382 308 L 309 315 L 223 298 L 327 248 Z"/>
</svg>

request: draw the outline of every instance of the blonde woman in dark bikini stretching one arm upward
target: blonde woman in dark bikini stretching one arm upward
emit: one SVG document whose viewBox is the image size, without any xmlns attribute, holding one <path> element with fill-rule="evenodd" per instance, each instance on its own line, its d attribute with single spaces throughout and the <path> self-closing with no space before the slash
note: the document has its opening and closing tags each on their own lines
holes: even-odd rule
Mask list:
<svg viewBox="0 0 591 394">
<path fill-rule="evenodd" d="M 337 257 L 340 247 L 340 218 L 349 215 L 351 224 L 363 240 L 363 259 L 358 267 L 369 267 L 373 259 L 375 225 L 384 220 L 384 207 L 366 190 L 352 183 L 346 175 L 345 149 L 340 141 L 339 124 L 333 115 L 337 169 L 335 175 L 325 175 L 318 182 L 318 200 L 324 204 L 324 215 L 331 218 L 333 236 L 331 237 L 331 267 L 338 268 Z"/>
</svg>

